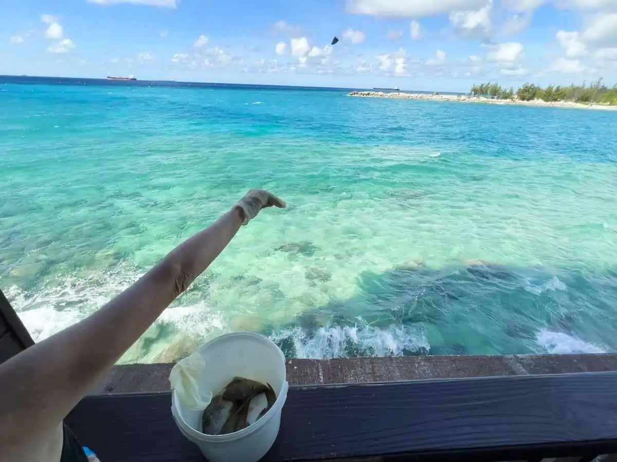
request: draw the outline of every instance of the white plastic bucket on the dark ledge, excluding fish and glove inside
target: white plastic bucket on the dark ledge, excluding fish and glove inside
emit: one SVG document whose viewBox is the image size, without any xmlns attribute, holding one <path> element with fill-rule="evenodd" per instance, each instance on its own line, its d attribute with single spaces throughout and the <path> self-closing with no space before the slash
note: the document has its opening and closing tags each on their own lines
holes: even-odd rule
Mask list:
<svg viewBox="0 0 617 462">
<path fill-rule="evenodd" d="M 172 392 L 172 415 L 182 434 L 194 442 L 210 462 L 257 462 L 274 444 L 287 399 L 285 357 L 270 339 L 251 332 L 226 334 L 207 342 L 197 352 L 205 362 L 201 386 L 214 394 L 236 376 L 268 383 L 276 401 L 254 424 L 226 435 L 206 435 L 201 429 L 202 411 L 184 408 Z"/>
</svg>

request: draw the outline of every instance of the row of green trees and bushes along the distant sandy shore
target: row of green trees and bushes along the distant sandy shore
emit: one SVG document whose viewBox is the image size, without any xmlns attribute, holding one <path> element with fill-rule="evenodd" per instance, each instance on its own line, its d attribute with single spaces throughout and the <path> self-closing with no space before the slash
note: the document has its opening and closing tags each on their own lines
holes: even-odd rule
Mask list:
<svg viewBox="0 0 617 462">
<path fill-rule="evenodd" d="M 597 103 L 617 105 L 617 84 L 606 86 L 602 79 L 587 85 L 570 84 L 568 86 L 549 85 L 545 88 L 532 83 L 525 83 L 516 92 L 513 87 L 502 87 L 497 83 L 488 82 L 471 87 L 471 94 L 491 99 L 520 99 L 532 101 L 541 99 L 546 102 L 572 101 L 576 103 Z"/>
</svg>

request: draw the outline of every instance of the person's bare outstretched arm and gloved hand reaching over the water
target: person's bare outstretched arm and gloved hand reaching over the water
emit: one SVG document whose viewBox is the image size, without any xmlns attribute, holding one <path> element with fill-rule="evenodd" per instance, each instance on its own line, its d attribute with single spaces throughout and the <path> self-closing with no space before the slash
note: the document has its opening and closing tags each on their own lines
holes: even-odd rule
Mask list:
<svg viewBox="0 0 617 462">
<path fill-rule="evenodd" d="M 96 313 L 0 365 L 0 461 L 59 460 L 65 416 L 212 263 L 242 222 L 270 206 L 285 203 L 251 190 Z"/>
</svg>

